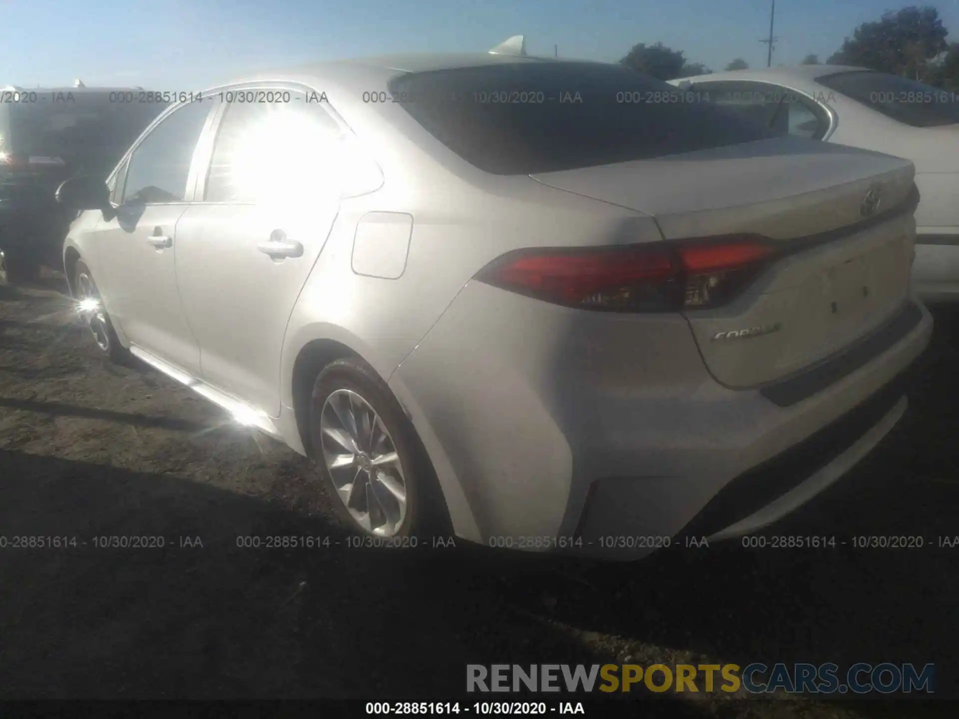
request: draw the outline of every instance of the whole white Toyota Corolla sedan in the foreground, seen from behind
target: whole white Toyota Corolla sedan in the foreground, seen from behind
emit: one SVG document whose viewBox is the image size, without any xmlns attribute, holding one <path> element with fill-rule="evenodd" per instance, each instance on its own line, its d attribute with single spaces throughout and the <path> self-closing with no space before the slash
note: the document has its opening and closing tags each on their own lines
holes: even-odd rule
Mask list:
<svg viewBox="0 0 959 719">
<path fill-rule="evenodd" d="M 374 537 L 754 531 L 901 417 L 914 168 L 670 93 L 503 50 L 211 89 L 60 187 L 78 310 Z"/>
</svg>

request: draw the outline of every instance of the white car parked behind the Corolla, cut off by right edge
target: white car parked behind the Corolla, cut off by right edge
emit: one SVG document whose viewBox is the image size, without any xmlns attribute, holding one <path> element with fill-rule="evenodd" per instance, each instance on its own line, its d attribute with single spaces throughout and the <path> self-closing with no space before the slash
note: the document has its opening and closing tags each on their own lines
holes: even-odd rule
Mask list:
<svg viewBox="0 0 959 719">
<path fill-rule="evenodd" d="M 922 197 L 913 284 L 927 301 L 959 299 L 959 93 L 842 65 L 737 70 L 672 83 L 782 134 L 912 160 Z"/>
</svg>

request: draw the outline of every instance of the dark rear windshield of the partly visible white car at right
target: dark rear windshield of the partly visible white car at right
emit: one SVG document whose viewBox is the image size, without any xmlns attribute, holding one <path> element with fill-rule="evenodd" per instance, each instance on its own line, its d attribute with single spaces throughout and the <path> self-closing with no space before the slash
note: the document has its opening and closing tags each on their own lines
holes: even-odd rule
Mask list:
<svg viewBox="0 0 959 719">
<path fill-rule="evenodd" d="M 899 75 L 858 70 L 827 75 L 816 81 L 914 128 L 959 123 L 955 93 Z"/>
</svg>

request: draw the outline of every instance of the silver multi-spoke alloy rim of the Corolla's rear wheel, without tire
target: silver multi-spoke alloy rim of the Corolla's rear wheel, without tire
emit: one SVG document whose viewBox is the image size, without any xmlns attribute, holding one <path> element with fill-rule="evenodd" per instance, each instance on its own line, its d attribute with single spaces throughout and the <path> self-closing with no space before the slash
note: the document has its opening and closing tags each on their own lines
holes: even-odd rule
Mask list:
<svg viewBox="0 0 959 719">
<path fill-rule="evenodd" d="M 407 484 L 393 438 L 352 389 L 330 393 L 320 412 L 323 461 L 340 501 L 367 532 L 392 537 L 407 517 Z"/>
</svg>

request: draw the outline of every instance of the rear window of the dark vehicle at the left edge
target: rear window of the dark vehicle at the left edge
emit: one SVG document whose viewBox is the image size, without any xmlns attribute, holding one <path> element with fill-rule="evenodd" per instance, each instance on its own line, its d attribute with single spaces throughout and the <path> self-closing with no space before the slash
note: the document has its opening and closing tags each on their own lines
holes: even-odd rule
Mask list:
<svg viewBox="0 0 959 719">
<path fill-rule="evenodd" d="M 134 102 L 129 100 L 133 96 Z M 18 93 L 0 105 L 0 151 L 60 158 L 77 170 L 106 174 L 165 104 L 137 103 L 138 93 Z"/>
</svg>

